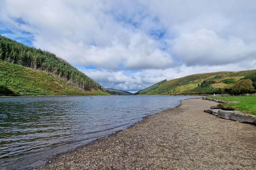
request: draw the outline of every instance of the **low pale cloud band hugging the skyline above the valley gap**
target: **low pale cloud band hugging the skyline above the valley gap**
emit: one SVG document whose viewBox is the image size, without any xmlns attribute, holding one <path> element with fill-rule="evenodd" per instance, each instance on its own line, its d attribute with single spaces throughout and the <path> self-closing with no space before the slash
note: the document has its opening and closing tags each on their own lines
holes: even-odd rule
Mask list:
<svg viewBox="0 0 256 170">
<path fill-rule="evenodd" d="M 105 88 L 122 89 L 130 92 L 139 91 L 149 87 L 162 80 L 172 80 L 187 75 L 198 73 L 210 73 L 218 71 L 242 71 L 255 69 L 256 59 L 248 64 L 248 61 L 241 61 L 236 64 L 226 64 L 219 66 L 187 66 L 180 65 L 175 68 L 168 69 L 146 69 L 138 72 L 132 71 L 113 71 L 106 69 L 85 69 L 77 67 L 93 80 L 100 83 Z"/>
</svg>

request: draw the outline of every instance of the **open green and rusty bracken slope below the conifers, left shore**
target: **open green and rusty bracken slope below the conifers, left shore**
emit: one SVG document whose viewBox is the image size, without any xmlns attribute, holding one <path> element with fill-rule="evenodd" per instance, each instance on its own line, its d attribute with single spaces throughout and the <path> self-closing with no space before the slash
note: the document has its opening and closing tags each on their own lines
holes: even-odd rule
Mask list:
<svg viewBox="0 0 256 170">
<path fill-rule="evenodd" d="M 40 70 L 0 61 L 0 95 L 109 95 L 100 89 L 82 90 L 67 80 Z"/>
</svg>

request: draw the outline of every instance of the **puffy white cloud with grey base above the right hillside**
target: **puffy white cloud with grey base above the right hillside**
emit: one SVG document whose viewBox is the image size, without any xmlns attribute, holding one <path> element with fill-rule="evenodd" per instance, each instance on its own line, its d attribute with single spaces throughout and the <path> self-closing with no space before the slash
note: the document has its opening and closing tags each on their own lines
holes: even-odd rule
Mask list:
<svg viewBox="0 0 256 170">
<path fill-rule="evenodd" d="M 172 52 L 187 65 L 225 65 L 256 56 L 256 44 L 246 44 L 234 36 L 222 38 L 207 29 L 182 33 L 170 45 Z"/>
</svg>

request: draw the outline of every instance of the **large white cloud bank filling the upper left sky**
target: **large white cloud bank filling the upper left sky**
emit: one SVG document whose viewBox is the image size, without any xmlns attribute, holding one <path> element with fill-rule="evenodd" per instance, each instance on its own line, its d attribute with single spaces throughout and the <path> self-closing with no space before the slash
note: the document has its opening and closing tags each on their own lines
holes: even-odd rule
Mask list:
<svg viewBox="0 0 256 170">
<path fill-rule="evenodd" d="M 35 47 L 72 64 L 110 69 L 123 64 L 137 70 L 173 64 L 172 55 L 159 49 L 157 41 L 125 19 L 117 20 L 104 2 L 72 3 L 70 7 L 66 1 L 6 1 L 3 6 L 1 20 L 13 29 L 31 32 Z"/>
</svg>

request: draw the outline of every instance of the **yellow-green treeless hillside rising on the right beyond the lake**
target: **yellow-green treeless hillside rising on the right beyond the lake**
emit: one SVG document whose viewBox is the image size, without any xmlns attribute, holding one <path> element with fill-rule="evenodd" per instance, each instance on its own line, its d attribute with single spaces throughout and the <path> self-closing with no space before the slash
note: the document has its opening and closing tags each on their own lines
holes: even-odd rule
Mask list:
<svg viewBox="0 0 256 170">
<path fill-rule="evenodd" d="M 256 70 L 237 72 L 215 72 L 189 75 L 186 77 L 164 81 L 135 93 L 137 95 L 197 95 L 219 94 L 230 88 L 245 76 L 253 75 Z"/>
</svg>

